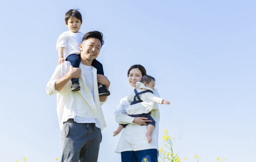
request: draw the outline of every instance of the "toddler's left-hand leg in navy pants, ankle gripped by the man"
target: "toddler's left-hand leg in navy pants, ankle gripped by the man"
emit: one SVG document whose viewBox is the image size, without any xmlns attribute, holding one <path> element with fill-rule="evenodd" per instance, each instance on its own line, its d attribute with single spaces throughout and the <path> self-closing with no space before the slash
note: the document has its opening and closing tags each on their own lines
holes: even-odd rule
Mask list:
<svg viewBox="0 0 256 162">
<path fill-rule="evenodd" d="M 80 54 L 70 54 L 67 58 L 67 61 L 71 62 L 71 65 L 73 67 L 79 67 L 81 58 L 80 58 Z M 79 78 L 72 78 L 72 85 L 71 85 L 71 90 L 72 91 L 78 91 L 80 90 L 80 86 L 79 86 Z"/>
</svg>

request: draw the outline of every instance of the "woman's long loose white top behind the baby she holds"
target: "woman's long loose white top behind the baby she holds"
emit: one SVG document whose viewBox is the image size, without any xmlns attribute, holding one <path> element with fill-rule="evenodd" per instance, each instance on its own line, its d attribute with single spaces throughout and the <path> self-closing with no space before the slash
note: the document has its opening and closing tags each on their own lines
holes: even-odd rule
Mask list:
<svg viewBox="0 0 256 162">
<path fill-rule="evenodd" d="M 155 96 L 160 96 L 157 89 L 154 90 Z M 138 105 L 136 105 L 138 104 Z M 136 106 L 149 106 L 151 105 L 153 108 L 151 110 L 151 116 L 155 119 L 156 125 L 154 131 L 152 133 L 152 142 L 148 143 L 147 136 L 145 135 L 147 132 L 147 125 L 138 125 L 133 123 L 135 117 L 131 117 L 126 115 L 126 108 L 130 105 L 130 102 L 127 101 L 127 97 L 124 97 L 120 100 L 120 104 L 115 110 L 115 121 L 121 124 L 127 124 L 122 131 L 119 142 L 116 146 L 115 152 L 120 153 L 122 151 L 137 151 L 143 149 L 158 149 L 158 132 L 159 132 L 159 121 L 160 121 L 160 112 L 158 108 L 158 104 L 152 101 L 143 101 L 140 103 L 136 103 Z"/>
</svg>

